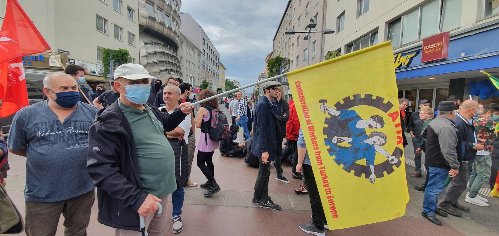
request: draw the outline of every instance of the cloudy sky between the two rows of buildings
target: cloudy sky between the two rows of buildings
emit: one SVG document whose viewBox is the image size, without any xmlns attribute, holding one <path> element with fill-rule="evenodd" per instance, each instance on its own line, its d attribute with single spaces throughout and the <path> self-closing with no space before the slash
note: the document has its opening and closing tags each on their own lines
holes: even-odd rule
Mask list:
<svg viewBox="0 0 499 236">
<path fill-rule="evenodd" d="M 180 11 L 191 14 L 208 34 L 227 67 L 226 78 L 244 86 L 263 70 L 287 1 L 183 0 Z"/>
</svg>

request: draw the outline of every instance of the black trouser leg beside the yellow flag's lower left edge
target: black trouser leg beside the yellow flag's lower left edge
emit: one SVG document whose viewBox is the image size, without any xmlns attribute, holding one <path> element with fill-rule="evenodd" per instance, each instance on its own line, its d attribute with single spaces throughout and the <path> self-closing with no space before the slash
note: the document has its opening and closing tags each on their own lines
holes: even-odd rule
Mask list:
<svg viewBox="0 0 499 236">
<path fill-rule="evenodd" d="M 305 183 L 307 184 L 308 198 L 310 198 L 310 208 L 312 209 L 312 222 L 319 230 L 324 230 L 326 223 L 326 216 L 320 201 L 317 183 L 313 177 L 312 166 L 303 164 L 303 175 L 305 176 Z"/>
</svg>

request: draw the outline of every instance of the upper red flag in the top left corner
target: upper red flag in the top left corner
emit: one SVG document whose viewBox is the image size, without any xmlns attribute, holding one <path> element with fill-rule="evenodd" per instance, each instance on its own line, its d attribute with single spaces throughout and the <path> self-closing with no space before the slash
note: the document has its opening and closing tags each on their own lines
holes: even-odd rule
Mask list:
<svg viewBox="0 0 499 236">
<path fill-rule="evenodd" d="M 0 63 L 50 49 L 16 0 L 7 0 L 0 29 Z"/>
</svg>

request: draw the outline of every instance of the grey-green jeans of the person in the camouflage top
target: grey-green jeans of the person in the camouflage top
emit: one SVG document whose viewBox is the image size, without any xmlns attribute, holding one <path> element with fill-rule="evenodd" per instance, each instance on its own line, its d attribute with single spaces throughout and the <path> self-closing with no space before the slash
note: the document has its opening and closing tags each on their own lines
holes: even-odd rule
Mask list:
<svg viewBox="0 0 499 236">
<path fill-rule="evenodd" d="M 477 196 L 478 191 L 489 180 L 491 176 L 492 156 L 476 155 L 473 163 L 473 171 L 470 176 L 470 197 Z"/>
</svg>

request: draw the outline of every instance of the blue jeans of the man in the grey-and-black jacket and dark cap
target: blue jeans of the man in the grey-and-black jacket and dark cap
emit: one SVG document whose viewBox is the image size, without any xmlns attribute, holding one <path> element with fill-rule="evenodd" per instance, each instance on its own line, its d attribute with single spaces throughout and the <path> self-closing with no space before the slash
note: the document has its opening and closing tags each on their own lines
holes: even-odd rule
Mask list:
<svg viewBox="0 0 499 236">
<path fill-rule="evenodd" d="M 435 215 L 438 195 L 445 190 L 444 183 L 449 175 L 449 169 L 430 166 L 428 174 L 430 175 L 430 179 L 423 198 L 423 212 L 429 215 Z"/>
</svg>

